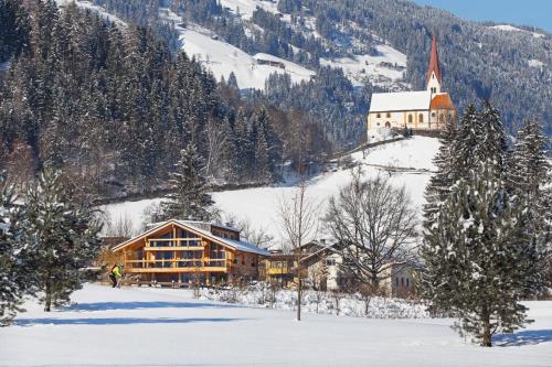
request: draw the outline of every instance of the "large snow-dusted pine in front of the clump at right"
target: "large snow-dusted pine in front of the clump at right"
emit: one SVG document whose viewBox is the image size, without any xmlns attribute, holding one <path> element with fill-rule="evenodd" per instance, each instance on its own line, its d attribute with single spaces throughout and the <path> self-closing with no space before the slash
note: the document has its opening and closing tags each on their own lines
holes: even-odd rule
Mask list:
<svg viewBox="0 0 552 367">
<path fill-rule="evenodd" d="M 496 162 L 480 163 L 453 187 L 425 234 L 422 292 L 453 312 L 460 335 L 491 346 L 523 326 L 523 298 L 543 285 L 543 256 L 528 234 L 527 203 L 512 199 Z"/>
</svg>

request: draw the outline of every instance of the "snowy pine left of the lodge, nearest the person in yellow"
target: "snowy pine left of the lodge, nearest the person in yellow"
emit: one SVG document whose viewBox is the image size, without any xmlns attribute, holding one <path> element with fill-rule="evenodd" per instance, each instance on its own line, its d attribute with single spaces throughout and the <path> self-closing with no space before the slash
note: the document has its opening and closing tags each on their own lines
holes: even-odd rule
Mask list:
<svg viewBox="0 0 552 367">
<path fill-rule="evenodd" d="M 60 171 L 46 165 L 26 192 L 25 241 L 33 267 L 33 288 L 44 310 L 70 301 L 85 280 L 83 269 L 99 250 L 100 225 L 86 201 L 76 201 Z"/>
</svg>

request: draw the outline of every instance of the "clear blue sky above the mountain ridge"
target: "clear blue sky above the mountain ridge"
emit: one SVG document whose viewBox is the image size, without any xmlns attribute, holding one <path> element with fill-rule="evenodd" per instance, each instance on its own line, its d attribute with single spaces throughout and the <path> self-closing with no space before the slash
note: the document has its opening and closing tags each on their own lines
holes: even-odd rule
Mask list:
<svg viewBox="0 0 552 367">
<path fill-rule="evenodd" d="M 552 33 L 552 0 L 414 0 L 463 19 L 539 26 Z"/>
</svg>

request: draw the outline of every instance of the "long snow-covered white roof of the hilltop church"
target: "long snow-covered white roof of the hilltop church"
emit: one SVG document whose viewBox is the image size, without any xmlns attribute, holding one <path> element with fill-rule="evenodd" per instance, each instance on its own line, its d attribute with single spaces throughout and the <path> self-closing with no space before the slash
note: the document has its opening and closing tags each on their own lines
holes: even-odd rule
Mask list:
<svg viewBox="0 0 552 367">
<path fill-rule="evenodd" d="M 432 100 L 429 90 L 374 93 L 370 112 L 427 110 Z"/>
</svg>

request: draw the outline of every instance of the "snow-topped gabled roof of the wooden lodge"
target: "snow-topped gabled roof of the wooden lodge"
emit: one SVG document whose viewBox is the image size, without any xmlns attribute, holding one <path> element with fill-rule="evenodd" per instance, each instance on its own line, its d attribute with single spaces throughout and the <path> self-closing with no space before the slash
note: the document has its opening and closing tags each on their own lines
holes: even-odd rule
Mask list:
<svg viewBox="0 0 552 367">
<path fill-rule="evenodd" d="M 177 220 L 177 219 L 170 219 L 168 222 L 160 223 L 159 225 L 150 228 L 149 230 L 147 230 L 147 231 L 134 237 L 134 238 L 130 238 L 129 240 L 124 241 L 120 245 L 115 246 L 112 249 L 112 251 L 120 250 L 121 248 L 125 248 L 125 247 L 136 242 L 137 240 L 142 239 L 142 238 L 145 238 L 145 237 L 147 237 L 147 236 L 149 236 L 149 235 L 151 235 L 151 234 L 158 231 L 159 229 L 161 229 L 166 226 L 169 226 L 169 225 L 177 225 L 178 227 L 180 227 L 182 229 L 187 229 L 187 230 L 197 233 L 200 236 L 203 236 L 203 237 L 209 238 L 215 242 L 219 242 L 223 246 L 227 246 L 227 247 L 233 248 L 233 249 L 238 250 L 238 251 L 252 252 L 252 253 L 257 253 L 257 255 L 262 255 L 262 256 L 269 255 L 268 251 L 263 250 L 262 248 L 258 248 L 253 244 L 250 244 L 246 241 L 241 241 L 241 240 L 235 240 L 235 239 L 230 239 L 230 238 L 219 237 L 219 236 L 211 234 L 210 231 L 206 231 L 204 229 L 201 229 L 201 228 L 194 226 L 193 224 L 190 224 L 190 223 L 187 223 L 183 220 Z"/>
</svg>

